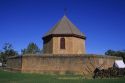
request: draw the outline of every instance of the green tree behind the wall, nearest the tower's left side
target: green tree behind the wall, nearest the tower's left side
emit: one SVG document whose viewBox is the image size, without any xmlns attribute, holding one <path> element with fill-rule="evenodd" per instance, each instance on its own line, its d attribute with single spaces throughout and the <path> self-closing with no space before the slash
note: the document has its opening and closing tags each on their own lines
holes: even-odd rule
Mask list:
<svg viewBox="0 0 125 83">
<path fill-rule="evenodd" d="M 40 49 L 38 48 L 38 46 L 31 42 L 28 44 L 27 48 L 24 48 L 23 50 L 21 50 L 22 54 L 38 54 L 40 53 Z"/>
</svg>

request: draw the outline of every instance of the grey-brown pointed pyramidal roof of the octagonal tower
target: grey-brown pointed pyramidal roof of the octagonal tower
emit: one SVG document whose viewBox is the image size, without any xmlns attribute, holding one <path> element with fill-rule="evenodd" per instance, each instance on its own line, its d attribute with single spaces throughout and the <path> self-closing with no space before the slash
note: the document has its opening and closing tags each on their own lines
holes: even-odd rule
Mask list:
<svg viewBox="0 0 125 83">
<path fill-rule="evenodd" d="M 75 35 L 85 38 L 84 34 L 65 15 L 43 38 L 50 35 Z"/>
</svg>

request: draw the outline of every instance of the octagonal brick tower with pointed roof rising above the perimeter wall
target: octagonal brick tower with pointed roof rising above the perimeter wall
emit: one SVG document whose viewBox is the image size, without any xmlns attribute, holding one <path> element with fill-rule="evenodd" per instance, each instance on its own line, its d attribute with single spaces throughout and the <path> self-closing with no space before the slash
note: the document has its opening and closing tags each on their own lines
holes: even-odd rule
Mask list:
<svg viewBox="0 0 125 83">
<path fill-rule="evenodd" d="M 85 54 L 85 35 L 65 15 L 42 39 L 44 54 Z"/>
</svg>

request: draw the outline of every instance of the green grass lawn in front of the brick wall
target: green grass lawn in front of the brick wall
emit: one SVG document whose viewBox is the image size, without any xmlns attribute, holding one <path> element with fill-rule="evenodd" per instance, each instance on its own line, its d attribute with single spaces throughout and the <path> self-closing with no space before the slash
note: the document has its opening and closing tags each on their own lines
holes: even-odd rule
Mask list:
<svg viewBox="0 0 125 83">
<path fill-rule="evenodd" d="M 0 83 L 125 83 L 122 79 L 83 79 L 78 75 L 42 75 L 0 70 Z"/>
</svg>

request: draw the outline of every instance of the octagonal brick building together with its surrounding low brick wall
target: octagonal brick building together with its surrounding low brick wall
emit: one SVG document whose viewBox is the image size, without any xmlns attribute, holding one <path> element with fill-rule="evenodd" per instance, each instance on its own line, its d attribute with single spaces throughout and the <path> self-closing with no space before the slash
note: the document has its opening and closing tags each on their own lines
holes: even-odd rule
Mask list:
<svg viewBox="0 0 125 83">
<path fill-rule="evenodd" d="M 64 15 L 43 37 L 43 54 L 9 57 L 7 69 L 49 74 L 92 75 L 97 67 L 107 69 L 120 58 L 87 54 L 86 36 Z"/>
</svg>

